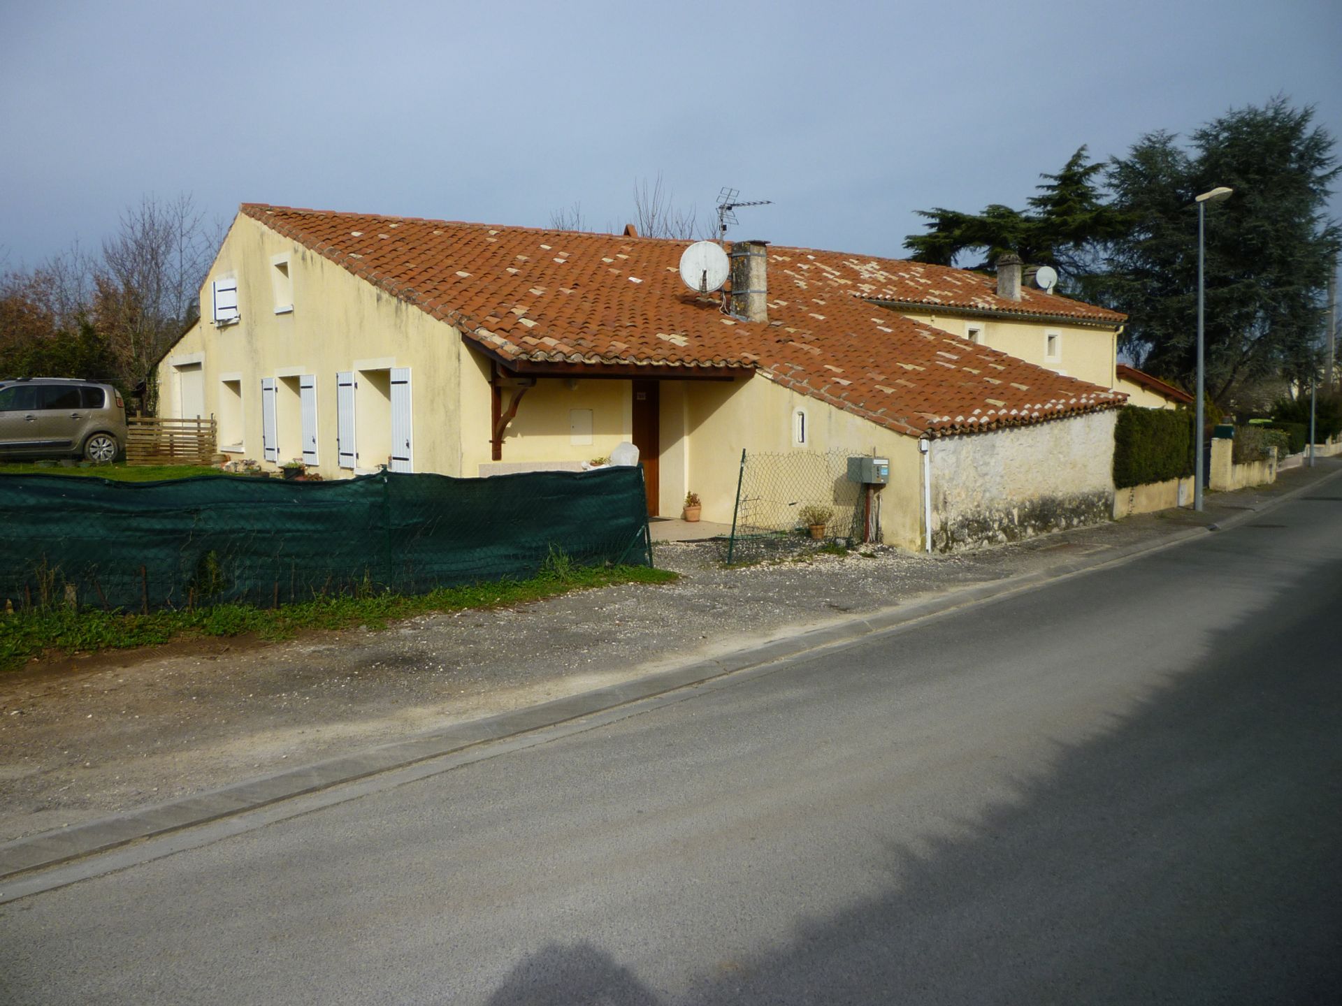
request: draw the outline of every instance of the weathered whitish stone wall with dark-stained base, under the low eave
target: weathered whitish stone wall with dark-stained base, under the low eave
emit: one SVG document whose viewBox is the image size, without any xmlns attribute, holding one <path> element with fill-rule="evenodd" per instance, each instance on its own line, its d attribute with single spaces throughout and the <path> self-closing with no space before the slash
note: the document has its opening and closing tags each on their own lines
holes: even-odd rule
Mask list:
<svg viewBox="0 0 1342 1006">
<path fill-rule="evenodd" d="M 931 444 L 933 546 L 977 549 L 1108 520 L 1114 409 Z"/>
</svg>

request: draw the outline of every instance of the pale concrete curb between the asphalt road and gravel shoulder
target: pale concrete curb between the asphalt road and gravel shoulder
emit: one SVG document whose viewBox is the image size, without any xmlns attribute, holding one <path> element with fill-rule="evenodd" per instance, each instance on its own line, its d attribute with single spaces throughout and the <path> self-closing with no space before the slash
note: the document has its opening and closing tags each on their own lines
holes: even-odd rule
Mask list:
<svg viewBox="0 0 1342 1006">
<path fill-rule="evenodd" d="M 620 684 L 554 699 L 538 706 L 513 710 L 479 720 L 458 723 L 420 734 L 407 740 L 357 751 L 349 755 L 299 766 L 283 773 L 250 779 L 178 801 L 99 818 L 75 828 L 17 838 L 0 845 L 0 881 L 68 864 L 97 853 L 121 849 L 221 818 L 255 812 L 286 799 L 368 779 L 419 763 L 458 755 L 506 738 L 554 727 L 595 714 L 616 710 L 667 692 L 705 684 L 741 671 L 762 668 L 841 647 L 874 634 L 894 632 L 950 612 L 1004 600 L 1057 579 L 1090 573 L 1103 566 L 1127 562 L 1141 555 L 1172 549 L 1208 533 L 1228 530 L 1252 520 L 1264 511 L 1318 488 L 1342 471 L 1314 479 L 1308 484 L 1275 496 L 1205 527 L 1190 527 L 1162 535 L 1158 541 L 1104 549 L 1091 555 L 1055 563 L 1016 577 L 974 583 L 945 594 L 886 608 L 866 616 L 823 625 L 796 636 L 774 640 L 747 651 L 660 671 Z M 9 900 L 9 899 L 0 899 Z"/>
</svg>

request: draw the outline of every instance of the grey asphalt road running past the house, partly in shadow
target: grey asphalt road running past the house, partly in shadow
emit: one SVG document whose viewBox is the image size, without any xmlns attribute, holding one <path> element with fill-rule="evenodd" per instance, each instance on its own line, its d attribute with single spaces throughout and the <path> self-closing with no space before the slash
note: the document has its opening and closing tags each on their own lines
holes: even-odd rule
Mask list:
<svg viewBox="0 0 1342 1006">
<path fill-rule="evenodd" d="M 0 908 L 13 1003 L 1337 1003 L 1342 480 Z"/>
</svg>

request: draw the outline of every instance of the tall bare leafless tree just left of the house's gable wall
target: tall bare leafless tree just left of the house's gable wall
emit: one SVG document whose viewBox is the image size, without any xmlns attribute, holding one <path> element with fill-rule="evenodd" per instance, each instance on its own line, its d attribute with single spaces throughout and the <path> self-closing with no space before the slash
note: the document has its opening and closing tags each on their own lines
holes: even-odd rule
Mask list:
<svg viewBox="0 0 1342 1006">
<path fill-rule="evenodd" d="M 146 382 L 161 353 L 199 313 L 220 227 L 204 220 L 192 197 L 145 196 L 121 215 L 103 241 L 97 313 L 123 359 L 127 378 Z"/>
</svg>

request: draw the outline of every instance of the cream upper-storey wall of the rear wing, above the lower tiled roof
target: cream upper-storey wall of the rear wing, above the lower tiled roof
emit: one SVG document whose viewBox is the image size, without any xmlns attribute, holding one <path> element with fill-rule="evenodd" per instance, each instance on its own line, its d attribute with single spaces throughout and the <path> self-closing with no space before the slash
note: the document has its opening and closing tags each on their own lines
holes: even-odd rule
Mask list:
<svg viewBox="0 0 1342 1006">
<path fill-rule="evenodd" d="M 910 314 L 925 325 L 931 325 L 951 335 L 966 337 L 969 329 L 982 331 L 982 345 L 1009 353 L 1027 364 L 1035 364 L 1068 377 L 1117 386 L 1118 334 L 1114 329 L 1092 329 L 1079 325 L 1051 325 L 1045 322 L 1019 322 L 998 318 L 966 318 L 956 314 Z M 1056 337 L 1056 353 L 1048 354 L 1048 337 Z"/>
</svg>

